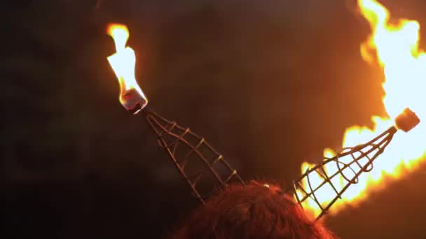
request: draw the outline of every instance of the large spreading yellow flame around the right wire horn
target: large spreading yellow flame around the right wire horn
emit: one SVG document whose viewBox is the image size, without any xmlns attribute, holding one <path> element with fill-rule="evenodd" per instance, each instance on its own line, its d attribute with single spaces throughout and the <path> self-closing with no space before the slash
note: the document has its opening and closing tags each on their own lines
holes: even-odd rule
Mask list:
<svg viewBox="0 0 426 239">
<path fill-rule="evenodd" d="M 385 74 L 385 96 L 383 104 L 388 117 L 373 116 L 373 129 L 365 126 L 352 126 L 347 129 L 343 136 L 343 147 L 350 147 L 366 143 L 379 133 L 394 124 L 397 117 L 404 108 L 411 108 L 420 119 L 426 117 L 426 54 L 419 49 L 420 24 L 413 20 L 399 20 L 391 24 L 389 11 L 376 0 L 358 0 L 360 13 L 368 20 L 371 27 L 371 35 L 360 47 L 364 61 L 371 64 L 379 64 Z M 405 173 L 418 168 L 426 156 L 426 128 L 419 124 L 410 133 L 397 133 L 392 143 L 385 152 L 376 159 L 373 170 L 370 173 L 362 173 L 359 182 L 352 184 L 343 198 L 336 201 L 331 207 L 334 214 L 345 207 L 345 205 L 357 204 L 364 200 L 371 191 L 382 189 L 389 179 L 398 179 Z M 324 150 L 324 157 L 332 157 L 332 150 Z M 303 163 L 302 173 L 313 165 Z M 330 165 L 326 171 L 334 171 Z M 328 173 L 328 172 L 327 172 Z M 322 182 L 320 175 L 312 172 L 311 184 Z M 308 182 L 302 182 L 307 187 Z M 337 190 L 344 185 L 343 178 L 334 180 Z M 329 184 L 324 184 L 324 189 L 318 191 L 317 199 L 321 204 L 329 203 L 336 195 Z M 340 187 L 340 188 L 339 188 Z M 301 191 L 296 191 L 301 196 Z M 312 199 L 303 202 L 303 208 L 314 215 L 321 212 L 318 205 Z"/>
</svg>

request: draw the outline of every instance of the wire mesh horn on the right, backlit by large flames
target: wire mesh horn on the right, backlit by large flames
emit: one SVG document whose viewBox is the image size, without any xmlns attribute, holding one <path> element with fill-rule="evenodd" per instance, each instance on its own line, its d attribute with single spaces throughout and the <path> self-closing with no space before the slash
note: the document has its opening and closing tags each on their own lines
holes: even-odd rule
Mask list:
<svg viewBox="0 0 426 239">
<path fill-rule="evenodd" d="M 315 202 L 321 210 L 317 216 L 320 219 L 351 184 L 357 184 L 359 175 L 373 169 L 373 161 L 383 153 L 396 132 L 397 128 L 392 126 L 368 143 L 346 147 L 335 157 L 324 158 L 321 164 L 308 168 L 287 192 L 291 191 L 302 207 L 307 200 Z M 331 200 L 322 200 L 325 188 L 328 198 L 332 194 Z"/>
</svg>

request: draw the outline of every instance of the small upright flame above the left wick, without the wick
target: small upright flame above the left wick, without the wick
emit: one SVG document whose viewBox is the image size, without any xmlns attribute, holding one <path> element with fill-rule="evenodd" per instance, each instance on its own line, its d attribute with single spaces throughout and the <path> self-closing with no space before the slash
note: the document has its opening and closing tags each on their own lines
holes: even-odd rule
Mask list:
<svg viewBox="0 0 426 239">
<path fill-rule="evenodd" d="M 107 59 L 120 83 L 120 102 L 123 106 L 126 105 L 128 99 L 125 96 L 130 89 L 135 89 L 146 101 L 144 92 L 137 85 L 135 78 L 135 51 L 125 46 L 129 38 L 128 27 L 123 24 L 109 24 L 107 33 L 114 39 L 116 45 L 116 53 L 107 57 Z"/>
</svg>

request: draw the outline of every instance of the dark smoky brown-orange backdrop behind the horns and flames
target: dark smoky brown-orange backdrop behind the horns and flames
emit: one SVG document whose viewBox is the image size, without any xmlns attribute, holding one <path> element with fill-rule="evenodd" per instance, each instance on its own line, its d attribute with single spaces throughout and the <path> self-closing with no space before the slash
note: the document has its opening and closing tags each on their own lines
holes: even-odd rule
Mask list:
<svg viewBox="0 0 426 239">
<path fill-rule="evenodd" d="M 426 24 L 424 1 L 382 1 Z M 356 1 L 10 1 L 1 14 L 1 238 L 161 238 L 198 202 L 143 117 L 118 102 L 109 22 L 127 24 L 149 107 L 245 180 L 289 185 L 343 132 L 385 115 Z M 422 31 L 422 36 L 425 36 Z M 325 223 L 425 238 L 425 167 Z"/>
</svg>

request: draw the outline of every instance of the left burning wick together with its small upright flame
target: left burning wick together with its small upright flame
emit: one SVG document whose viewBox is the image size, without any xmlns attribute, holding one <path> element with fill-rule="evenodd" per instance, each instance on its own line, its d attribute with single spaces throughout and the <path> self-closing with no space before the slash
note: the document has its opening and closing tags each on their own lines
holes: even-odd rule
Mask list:
<svg viewBox="0 0 426 239">
<path fill-rule="evenodd" d="M 129 38 L 128 27 L 123 24 L 109 24 L 107 33 L 116 45 L 116 53 L 107 59 L 120 83 L 120 102 L 126 110 L 136 115 L 145 108 L 148 100 L 135 78 L 135 52 L 125 46 Z"/>
</svg>

